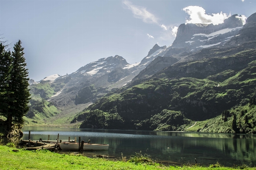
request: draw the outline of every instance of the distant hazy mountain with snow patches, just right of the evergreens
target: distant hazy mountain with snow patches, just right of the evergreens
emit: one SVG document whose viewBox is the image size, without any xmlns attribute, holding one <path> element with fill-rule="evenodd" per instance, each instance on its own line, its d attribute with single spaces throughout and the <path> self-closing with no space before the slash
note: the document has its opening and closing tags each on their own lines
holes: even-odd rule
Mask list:
<svg viewBox="0 0 256 170">
<path fill-rule="evenodd" d="M 148 56 L 153 60 L 154 55 L 164 48 L 166 46 L 156 44 Z M 88 63 L 70 75 L 50 75 L 39 82 L 30 80 L 32 99 L 26 121 L 30 124 L 59 124 L 64 119 L 68 124 L 84 107 L 126 86 L 148 63 L 129 64 L 116 55 Z"/>
</svg>

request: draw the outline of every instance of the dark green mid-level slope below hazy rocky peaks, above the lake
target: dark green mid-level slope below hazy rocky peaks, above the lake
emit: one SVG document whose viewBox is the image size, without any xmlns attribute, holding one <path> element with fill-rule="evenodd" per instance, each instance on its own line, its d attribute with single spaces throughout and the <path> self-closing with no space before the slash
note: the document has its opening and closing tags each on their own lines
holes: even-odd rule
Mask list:
<svg viewBox="0 0 256 170">
<path fill-rule="evenodd" d="M 195 121 L 244 106 L 256 92 L 256 49 L 177 63 L 152 77 L 90 105 L 77 116 L 84 120 L 81 127 L 110 129 L 108 120 L 122 124 L 116 129 L 185 130 Z"/>
</svg>

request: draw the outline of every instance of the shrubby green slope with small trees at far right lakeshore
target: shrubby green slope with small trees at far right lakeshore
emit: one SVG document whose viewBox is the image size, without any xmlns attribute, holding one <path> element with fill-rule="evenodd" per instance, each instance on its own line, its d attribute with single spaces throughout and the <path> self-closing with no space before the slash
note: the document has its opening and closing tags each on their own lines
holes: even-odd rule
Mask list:
<svg viewBox="0 0 256 170">
<path fill-rule="evenodd" d="M 223 114 L 206 120 L 198 121 L 186 131 L 210 133 L 256 133 L 255 98 L 248 100 L 245 106 L 236 106 L 223 111 Z M 225 115 L 225 112 L 227 113 Z M 226 120 L 225 120 L 226 117 Z"/>
</svg>

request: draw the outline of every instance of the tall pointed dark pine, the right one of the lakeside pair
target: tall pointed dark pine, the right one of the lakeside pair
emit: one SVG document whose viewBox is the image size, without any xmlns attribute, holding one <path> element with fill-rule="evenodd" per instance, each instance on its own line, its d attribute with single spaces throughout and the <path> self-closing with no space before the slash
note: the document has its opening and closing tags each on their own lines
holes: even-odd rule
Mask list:
<svg viewBox="0 0 256 170">
<path fill-rule="evenodd" d="M 29 78 L 28 69 L 24 58 L 21 41 L 19 40 L 12 52 L 12 69 L 10 72 L 9 90 L 12 92 L 10 97 L 13 101 L 10 103 L 9 112 L 7 115 L 7 129 L 10 130 L 12 124 L 23 124 L 23 116 L 29 111 Z"/>
</svg>

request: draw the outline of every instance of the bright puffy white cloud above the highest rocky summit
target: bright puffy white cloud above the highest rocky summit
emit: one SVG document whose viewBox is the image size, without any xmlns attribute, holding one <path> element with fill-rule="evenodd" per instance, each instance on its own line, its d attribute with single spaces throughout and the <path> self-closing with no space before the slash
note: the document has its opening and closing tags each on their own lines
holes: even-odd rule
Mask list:
<svg viewBox="0 0 256 170">
<path fill-rule="evenodd" d="M 218 25 L 231 16 L 230 14 L 222 12 L 217 14 L 206 14 L 205 10 L 200 6 L 187 6 L 186 8 L 183 8 L 183 11 L 189 14 L 186 23 L 212 23 L 213 25 Z"/>
</svg>

